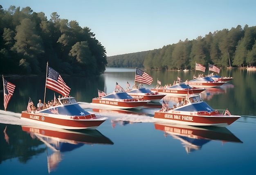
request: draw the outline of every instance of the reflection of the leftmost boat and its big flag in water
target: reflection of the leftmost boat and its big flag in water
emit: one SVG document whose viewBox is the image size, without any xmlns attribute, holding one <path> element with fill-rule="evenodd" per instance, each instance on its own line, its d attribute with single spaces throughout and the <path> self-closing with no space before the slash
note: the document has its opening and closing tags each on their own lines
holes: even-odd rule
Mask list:
<svg viewBox="0 0 256 175">
<path fill-rule="evenodd" d="M 33 139 L 42 141 L 46 146 L 46 151 L 47 148 L 51 148 L 54 151 L 49 156 L 47 152 L 48 173 L 55 171 L 58 163 L 62 161 L 61 152 L 72 151 L 84 144 L 114 144 L 98 130 L 71 131 L 45 126 L 44 128 L 22 126 L 22 130 L 28 132 Z"/>
</svg>

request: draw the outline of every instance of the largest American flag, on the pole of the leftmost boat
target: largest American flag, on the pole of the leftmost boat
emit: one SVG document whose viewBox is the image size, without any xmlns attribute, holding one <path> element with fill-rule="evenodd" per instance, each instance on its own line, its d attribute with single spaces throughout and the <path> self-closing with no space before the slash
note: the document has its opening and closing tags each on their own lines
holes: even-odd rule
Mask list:
<svg viewBox="0 0 256 175">
<path fill-rule="evenodd" d="M 52 67 L 48 66 L 48 73 L 46 78 L 46 88 L 54 90 L 63 96 L 69 96 L 71 88 L 61 78 L 61 75 Z"/>
</svg>

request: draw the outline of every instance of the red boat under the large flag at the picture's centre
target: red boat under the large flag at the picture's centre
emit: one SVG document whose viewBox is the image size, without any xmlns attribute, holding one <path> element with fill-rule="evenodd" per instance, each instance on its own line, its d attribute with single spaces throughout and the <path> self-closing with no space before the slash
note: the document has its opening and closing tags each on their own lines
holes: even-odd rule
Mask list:
<svg viewBox="0 0 256 175">
<path fill-rule="evenodd" d="M 139 85 L 133 85 L 132 90 L 129 89 L 126 92 L 133 98 L 150 100 L 153 103 L 158 103 L 164 96 L 166 96 L 166 94 L 160 94 L 159 92 L 151 92 L 151 90 L 144 88 L 141 83 Z"/>
</svg>

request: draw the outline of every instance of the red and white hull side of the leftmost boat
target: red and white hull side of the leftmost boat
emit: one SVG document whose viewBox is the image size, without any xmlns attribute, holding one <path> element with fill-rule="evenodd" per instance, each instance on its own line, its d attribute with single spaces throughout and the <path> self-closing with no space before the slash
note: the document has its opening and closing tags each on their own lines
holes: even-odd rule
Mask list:
<svg viewBox="0 0 256 175">
<path fill-rule="evenodd" d="M 54 114 L 53 114 L 54 115 Z M 71 116 L 70 116 L 71 117 Z M 101 125 L 104 121 L 106 121 L 105 118 L 99 118 L 99 119 L 68 119 L 66 117 L 65 119 L 55 118 L 51 116 L 45 116 L 40 114 L 31 114 L 26 111 L 22 111 L 21 113 L 21 119 L 27 119 L 30 121 L 34 121 L 36 123 L 44 124 L 47 126 L 54 126 L 56 128 L 63 128 L 63 129 L 95 129 L 98 126 Z"/>
</svg>

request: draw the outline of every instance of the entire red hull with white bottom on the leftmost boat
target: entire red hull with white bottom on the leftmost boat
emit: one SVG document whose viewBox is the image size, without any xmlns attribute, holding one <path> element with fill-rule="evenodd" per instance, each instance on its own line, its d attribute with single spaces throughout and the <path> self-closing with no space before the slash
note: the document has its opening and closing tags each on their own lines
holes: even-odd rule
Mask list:
<svg viewBox="0 0 256 175">
<path fill-rule="evenodd" d="M 107 117 L 96 117 L 94 114 L 85 116 L 65 116 L 41 112 L 32 114 L 27 111 L 22 111 L 20 118 L 62 129 L 96 129 L 101 123 L 108 119 Z"/>
</svg>

